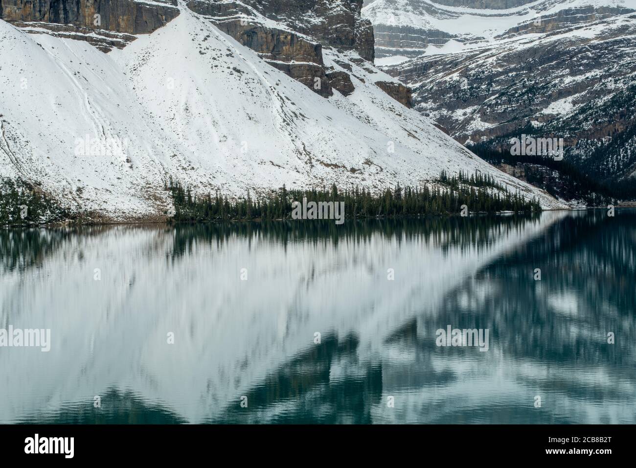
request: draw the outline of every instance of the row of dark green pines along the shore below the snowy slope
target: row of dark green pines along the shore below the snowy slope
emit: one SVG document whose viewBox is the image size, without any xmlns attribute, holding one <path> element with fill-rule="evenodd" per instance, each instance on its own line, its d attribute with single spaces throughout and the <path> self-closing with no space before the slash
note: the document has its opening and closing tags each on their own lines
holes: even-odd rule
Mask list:
<svg viewBox="0 0 636 468">
<path fill-rule="evenodd" d="M 342 201 L 347 218 L 459 214 L 463 205 L 471 213 L 541 211 L 536 199 L 527 201 L 519 194 L 510 194 L 490 176 L 462 173 L 449 177 L 443 171 L 438 181 L 445 187 L 403 188 L 398 183 L 392 190 L 373 194 L 364 187 L 339 190 L 335 184 L 329 189 L 310 190 L 287 190 L 283 186 L 258 197 L 248 191 L 235 199 L 219 191 L 214 195 L 194 194 L 191 187 L 184 187 L 172 177 L 165 181 L 165 189 L 172 195 L 172 219 L 177 222 L 289 219 L 292 203 L 301 202 L 303 197 L 308 202 Z"/>
</svg>

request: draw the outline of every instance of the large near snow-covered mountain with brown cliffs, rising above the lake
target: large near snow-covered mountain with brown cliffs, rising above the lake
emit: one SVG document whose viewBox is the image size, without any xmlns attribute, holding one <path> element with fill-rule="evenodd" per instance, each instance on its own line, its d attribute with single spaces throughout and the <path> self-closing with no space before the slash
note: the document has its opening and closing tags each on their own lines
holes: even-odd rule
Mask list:
<svg viewBox="0 0 636 468">
<path fill-rule="evenodd" d="M 480 170 L 562 206 L 398 102 L 406 88 L 368 61 L 361 5 L 357 17 L 350 4 L 329 10 L 340 15 L 330 21 L 351 24 L 338 39 L 315 15 L 314 29 L 298 32 L 242 3 L 118 0 L 111 8 L 132 11 L 119 21 L 123 13 L 54 18 L 53 3 L 46 14 L 17 3 L 0 5 L 13 23 L 0 20 L 0 175 L 75 209 L 161 215 L 167 176 L 242 195 L 331 182 L 379 190 L 427 183 L 441 169 Z"/>
</svg>

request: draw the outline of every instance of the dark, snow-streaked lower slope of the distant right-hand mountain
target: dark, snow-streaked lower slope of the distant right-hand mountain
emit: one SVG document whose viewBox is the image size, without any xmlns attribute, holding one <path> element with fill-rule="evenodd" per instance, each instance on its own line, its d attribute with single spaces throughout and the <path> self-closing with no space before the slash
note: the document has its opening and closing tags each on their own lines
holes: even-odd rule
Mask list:
<svg viewBox="0 0 636 468">
<path fill-rule="evenodd" d="M 428 51 L 427 51 L 428 52 Z M 415 108 L 458 141 L 505 144 L 527 128 L 606 180 L 636 171 L 636 14 L 426 54 L 390 68 Z"/>
</svg>

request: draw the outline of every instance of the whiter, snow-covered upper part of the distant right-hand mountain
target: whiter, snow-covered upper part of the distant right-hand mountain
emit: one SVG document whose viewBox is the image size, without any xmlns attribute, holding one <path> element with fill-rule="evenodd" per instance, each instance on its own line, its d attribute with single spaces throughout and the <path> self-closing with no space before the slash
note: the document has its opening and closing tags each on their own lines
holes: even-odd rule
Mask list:
<svg viewBox="0 0 636 468">
<path fill-rule="evenodd" d="M 375 0 L 363 17 L 373 23 L 378 58 L 414 58 L 458 50 L 476 41 L 545 33 L 632 11 L 631 0 Z M 458 9 L 460 8 L 460 9 Z"/>
</svg>

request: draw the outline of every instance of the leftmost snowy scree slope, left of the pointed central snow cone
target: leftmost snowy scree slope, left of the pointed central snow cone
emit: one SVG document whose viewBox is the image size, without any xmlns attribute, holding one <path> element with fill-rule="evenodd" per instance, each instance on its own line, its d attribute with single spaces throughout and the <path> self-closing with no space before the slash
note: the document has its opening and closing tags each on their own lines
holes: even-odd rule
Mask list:
<svg viewBox="0 0 636 468">
<path fill-rule="evenodd" d="M 144 151 L 152 140 L 142 138 L 153 129 L 137 117 L 142 110 L 120 69 L 87 43 L 31 36 L 3 21 L 0 41 L 1 174 L 40 181 L 78 208 L 146 211 L 139 187 L 158 176 L 149 155 L 162 152 Z M 101 156 L 89 146 L 88 155 L 76 153 L 76 139 L 86 135 L 128 139 L 130 157 L 146 170 L 130 169 L 123 152 Z"/>
</svg>

